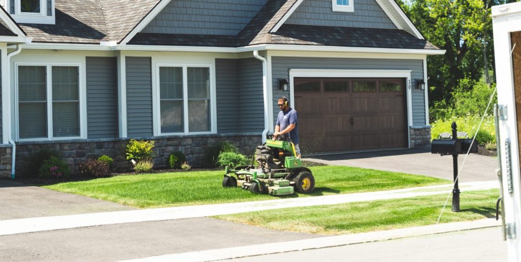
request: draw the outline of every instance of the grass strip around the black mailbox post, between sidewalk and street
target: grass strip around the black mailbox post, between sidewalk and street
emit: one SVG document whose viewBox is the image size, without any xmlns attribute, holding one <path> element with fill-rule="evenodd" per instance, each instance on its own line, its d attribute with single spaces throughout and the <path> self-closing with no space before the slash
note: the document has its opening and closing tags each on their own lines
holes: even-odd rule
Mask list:
<svg viewBox="0 0 521 262">
<path fill-rule="evenodd" d="M 435 224 L 448 194 L 255 211 L 215 218 L 275 230 L 314 234 L 351 234 Z M 461 212 L 447 203 L 440 223 L 495 216 L 499 190 L 462 192 Z"/>
</svg>

